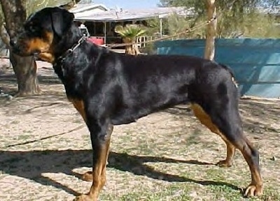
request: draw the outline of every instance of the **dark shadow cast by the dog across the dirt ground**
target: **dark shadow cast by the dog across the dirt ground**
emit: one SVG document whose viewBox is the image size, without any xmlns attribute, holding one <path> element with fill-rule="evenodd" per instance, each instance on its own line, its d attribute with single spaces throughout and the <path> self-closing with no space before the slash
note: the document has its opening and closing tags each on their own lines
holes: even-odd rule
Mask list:
<svg viewBox="0 0 280 201">
<path fill-rule="evenodd" d="M 0 171 L 10 175 L 24 177 L 43 184 L 46 186 L 55 186 L 72 195 L 78 195 L 67 186 L 59 184 L 43 173 L 57 173 L 73 175 L 79 177 L 79 174 L 73 172 L 74 168 L 91 166 L 91 150 L 65 150 L 65 151 L 0 151 Z M 123 153 L 110 152 L 108 168 L 115 168 L 124 172 L 132 172 L 137 175 L 146 175 L 153 179 L 159 179 L 169 182 L 193 182 L 201 185 L 228 186 L 234 190 L 240 189 L 232 184 L 223 181 L 200 181 L 188 179 L 173 174 L 158 172 L 154 168 L 146 165 L 146 162 L 162 163 L 188 163 L 194 165 L 214 165 L 200 161 L 180 161 L 172 158 L 153 157 L 153 156 L 136 156 Z"/>
</svg>

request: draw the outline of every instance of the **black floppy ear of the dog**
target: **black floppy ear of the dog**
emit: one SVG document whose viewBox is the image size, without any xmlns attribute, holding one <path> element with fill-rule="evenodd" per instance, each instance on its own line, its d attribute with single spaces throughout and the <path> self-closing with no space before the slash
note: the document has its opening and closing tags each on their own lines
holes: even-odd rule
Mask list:
<svg viewBox="0 0 280 201">
<path fill-rule="evenodd" d="M 62 37 L 73 22 L 74 15 L 64 8 L 54 8 L 51 14 L 52 29 L 57 36 Z"/>
</svg>

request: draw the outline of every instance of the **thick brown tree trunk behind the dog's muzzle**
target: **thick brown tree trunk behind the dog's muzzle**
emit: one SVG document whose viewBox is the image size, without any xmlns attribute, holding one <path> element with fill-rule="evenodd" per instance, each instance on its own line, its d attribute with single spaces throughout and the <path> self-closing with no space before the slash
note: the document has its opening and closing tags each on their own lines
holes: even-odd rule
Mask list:
<svg viewBox="0 0 280 201">
<path fill-rule="evenodd" d="M 22 29 L 22 24 L 27 18 L 25 5 L 26 0 L 1 0 L 6 30 L 10 38 L 14 38 L 17 31 Z M 13 65 L 18 80 L 18 94 L 16 96 L 38 94 L 40 89 L 34 57 L 20 57 L 10 51 L 10 63 Z"/>
</svg>

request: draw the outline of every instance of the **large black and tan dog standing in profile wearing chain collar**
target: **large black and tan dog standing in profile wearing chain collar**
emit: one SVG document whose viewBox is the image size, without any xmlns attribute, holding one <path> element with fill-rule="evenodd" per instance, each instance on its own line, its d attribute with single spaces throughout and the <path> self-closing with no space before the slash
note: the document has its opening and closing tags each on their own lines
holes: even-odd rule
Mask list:
<svg viewBox="0 0 280 201">
<path fill-rule="evenodd" d="M 190 103 L 202 124 L 225 141 L 227 157 L 218 165 L 231 166 L 235 149 L 241 151 L 252 179 L 245 196 L 262 194 L 258 151 L 243 134 L 237 87 L 226 66 L 197 57 L 111 52 L 87 42 L 73 14 L 62 8 L 31 15 L 11 45 L 15 53 L 38 54 L 53 64 L 67 98 L 90 131 L 92 172 L 83 177 L 92 186 L 76 200 L 97 200 L 104 186 L 113 125 L 129 124 L 180 103 Z"/>
</svg>

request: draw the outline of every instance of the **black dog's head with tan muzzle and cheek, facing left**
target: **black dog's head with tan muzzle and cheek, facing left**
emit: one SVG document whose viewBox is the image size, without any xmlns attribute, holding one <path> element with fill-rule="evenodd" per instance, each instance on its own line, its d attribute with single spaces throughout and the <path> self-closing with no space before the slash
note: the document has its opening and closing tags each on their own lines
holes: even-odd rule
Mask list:
<svg viewBox="0 0 280 201">
<path fill-rule="evenodd" d="M 43 8 L 31 14 L 23 31 L 10 45 L 15 54 L 29 56 L 38 54 L 41 59 L 52 62 L 57 43 L 73 24 L 73 13 L 63 8 Z"/>
</svg>

